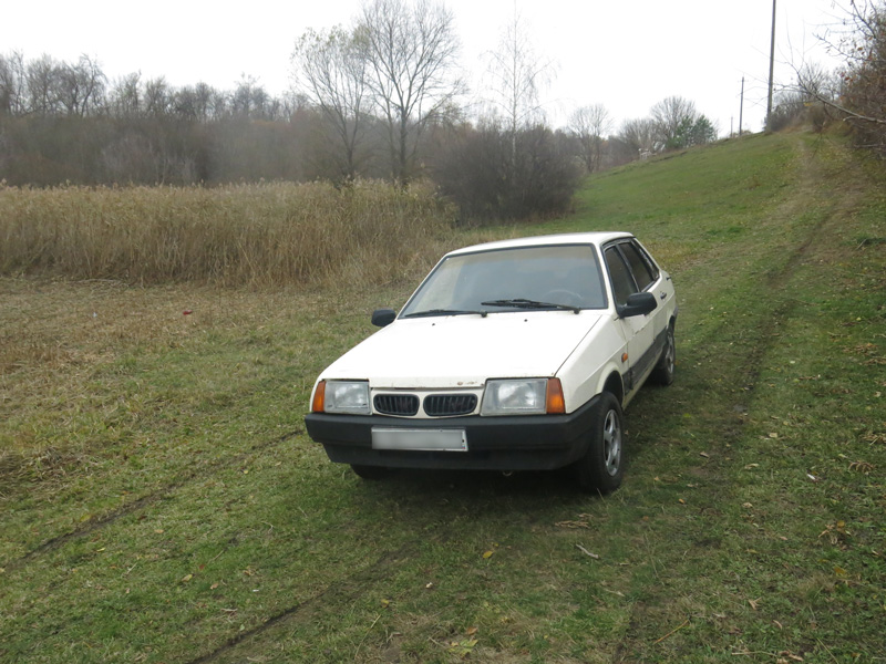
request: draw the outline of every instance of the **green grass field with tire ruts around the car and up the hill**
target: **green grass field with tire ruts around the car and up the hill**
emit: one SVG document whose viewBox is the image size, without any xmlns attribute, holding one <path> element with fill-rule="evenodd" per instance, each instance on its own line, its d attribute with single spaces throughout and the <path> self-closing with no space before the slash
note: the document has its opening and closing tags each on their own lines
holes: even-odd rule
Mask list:
<svg viewBox="0 0 886 664">
<path fill-rule="evenodd" d="M 606 498 L 328 463 L 311 383 L 409 280 L 3 278 L 0 661 L 885 662 L 885 185 L 753 136 L 495 231 L 630 230 L 674 278 Z"/>
</svg>

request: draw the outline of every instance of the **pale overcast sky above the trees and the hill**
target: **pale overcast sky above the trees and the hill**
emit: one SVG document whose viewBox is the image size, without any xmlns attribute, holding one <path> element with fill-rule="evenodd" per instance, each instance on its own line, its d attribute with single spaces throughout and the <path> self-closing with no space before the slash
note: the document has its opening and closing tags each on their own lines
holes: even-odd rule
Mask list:
<svg viewBox="0 0 886 664">
<path fill-rule="evenodd" d="M 841 0 L 777 0 L 776 81 L 791 62 L 835 62 L 816 35 L 845 12 Z M 514 17 L 514 0 L 447 0 L 463 63 L 477 72 Z M 0 52 L 31 60 L 48 53 L 97 59 L 113 81 L 141 72 L 175 86 L 206 82 L 233 90 L 241 75 L 267 92 L 289 87 L 289 58 L 308 28 L 349 24 L 360 0 L 236 2 L 215 0 L 44 0 L 7 3 Z M 549 122 L 565 124 L 579 105 L 602 104 L 615 121 L 645 117 L 662 98 L 696 103 L 720 134 L 738 129 L 745 79 L 744 128 L 762 128 L 766 106 L 772 0 L 517 0 L 534 49 L 557 65 L 545 93 Z"/>
</svg>

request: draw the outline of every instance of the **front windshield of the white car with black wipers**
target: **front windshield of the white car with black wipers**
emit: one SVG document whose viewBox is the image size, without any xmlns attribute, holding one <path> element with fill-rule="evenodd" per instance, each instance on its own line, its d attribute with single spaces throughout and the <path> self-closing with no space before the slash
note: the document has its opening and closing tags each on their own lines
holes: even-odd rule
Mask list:
<svg viewBox="0 0 886 664">
<path fill-rule="evenodd" d="M 425 279 L 401 317 L 606 305 L 594 247 L 556 245 L 451 256 Z"/>
</svg>

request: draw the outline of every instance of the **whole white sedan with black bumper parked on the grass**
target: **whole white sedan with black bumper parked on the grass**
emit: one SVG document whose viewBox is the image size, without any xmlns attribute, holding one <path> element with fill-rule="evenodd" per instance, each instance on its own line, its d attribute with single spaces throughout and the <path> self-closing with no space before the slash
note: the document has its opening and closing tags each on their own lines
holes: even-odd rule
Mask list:
<svg viewBox="0 0 886 664">
<path fill-rule="evenodd" d="M 573 466 L 605 494 L 622 408 L 648 377 L 673 381 L 676 320 L 671 278 L 627 232 L 459 249 L 320 374 L 308 434 L 364 478 Z"/>
</svg>

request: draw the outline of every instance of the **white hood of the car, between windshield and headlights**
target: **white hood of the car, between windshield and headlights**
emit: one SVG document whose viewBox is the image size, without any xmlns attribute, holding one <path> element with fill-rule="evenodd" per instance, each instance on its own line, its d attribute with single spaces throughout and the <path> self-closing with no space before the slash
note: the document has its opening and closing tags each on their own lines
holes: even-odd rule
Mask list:
<svg viewBox="0 0 886 664">
<path fill-rule="evenodd" d="M 320 376 L 373 387 L 476 387 L 487 378 L 554 376 L 601 314 L 584 310 L 401 319 Z"/>
</svg>

